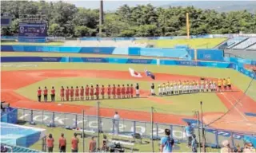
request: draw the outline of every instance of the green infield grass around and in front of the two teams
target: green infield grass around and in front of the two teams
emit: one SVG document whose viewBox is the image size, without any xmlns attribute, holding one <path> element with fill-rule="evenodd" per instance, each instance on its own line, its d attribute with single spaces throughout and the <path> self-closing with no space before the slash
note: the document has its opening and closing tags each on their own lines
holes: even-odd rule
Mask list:
<svg viewBox="0 0 256 153">
<path fill-rule="evenodd" d="M 149 91 L 150 82 L 148 81 L 136 81 L 140 84 L 142 90 Z M 57 95 L 59 95 L 59 90 L 61 86 L 76 86 L 86 85 L 86 84 L 134 84 L 132 80 L 114 80 L 114 79 L 98 79 L 98 78 L 84 78 L 84 77 L 70 77 L 70 78 L 58 78 L 58 79 L 46 79 L 39 81 L 35 84 L 30 84 L 24 88 L 19 88 L 16 92 L 22 96 L 26 96 L 29 99 L 37 100 L 37 96 L 31 94 L 32 91 L 35 91 L 39 86 L 47 86 L 50 88 L 54 86 L 57 89 Z M 156 84 L 160 82 L 155 82 Z M 205 101 L 204 112 L 226 112 L 226 107 L 218 99 L 214 93 L 198 93 L 193 95 L 184 95 L 184 96 L 166 96 L 158 97 L 160 100 L 165 100 L 165 104 L 159 104 L 155 101 L 139 98 L 139 99 L 126 99 L 126 100 L 101 100 L 101 107 L 103 108 L 122 108 L 130 109 L 137 111 L 149 112 L 151 107 L 157 112 L 162 113 L 174 113 L 180 115 L 190 115 L 194 114 L 193 111 L 198 110 L 200 105 L 199 101 Z M 57 100 L 60 100 L 60 97 L 57 97 Z M 168 104 L 170 102 L 170 104 Z M 57 101 L 59 103 L 59 101 Z M 189 107 L 187 104 L 190 104 Z M 78 104 L 78 105 L 90 105 L 96 106 L 96 100 L 93 101 L 75 101 L 75 102 L 65 102 L 65 104 Z M 175 107 L 174 107 L 175 106 Z M 213 107 L 214 106 L 214 107 Z"/>
</svg>

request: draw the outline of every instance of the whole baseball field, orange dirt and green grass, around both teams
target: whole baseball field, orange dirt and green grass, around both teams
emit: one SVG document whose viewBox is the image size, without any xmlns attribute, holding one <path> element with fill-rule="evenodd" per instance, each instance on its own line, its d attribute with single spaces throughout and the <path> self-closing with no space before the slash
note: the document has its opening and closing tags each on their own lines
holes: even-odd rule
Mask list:
<svg viewBox="0 0 256 153">
<path fill-rule="evenodd" d="M 110 55 L 74 53 L 2 52 L 2 57 L 6 56 L 112 57 Z M 209 124 L 218 117 L 225 115 L 214 124 L 210 124 L 210 126 L 224 130 L 256 131 L 256 118 L 254 116 L 246 116 L 246 112 L 256 113 L 256 81 L 232 69 L 50 62 L 2 63 L 1 66 L 2 100 L 8 101 L 13 107 L 69 113 L 82 113 L 85 110 L 86 115 L 96 115 L 97 100 L 61 102 L 59 96 L 61 86 L 80 87 L 86 84 L 104 84 L 106 86 L 108 84 L 138 83 L 141 88 L 140 98 L 99 100 L 100 116 L 112 117 L 114 112 L 118 111 L 122 119 L 150 121 L 150 109 L 153 107 L 154 122 L 185 125 L 186 121 L 183 119 L 196 119 L 194 111 L 201 110 L 200 101 L 202 101 L 203 121 L 205 124 Z M 142 78 L 130 77 L 129 68 L 142 73 Z M 146 77 L 144 69 L 154 73 L 156 80 Z M 191 93 L 178 96 L 149 96 L 150 84 L 153 82 L 154 84 L 160 84 L 173 80 L 200 80 L 201 77 L 210 79 L 230 77 L 233 91 Z M 249 84 L 250 88 L 247 88 Z M 38 87 L 44 88 L 45 86 L 49 89 L 52 86 L 56 88 L 57 97 L 55 102 L 39 103 L 37 101 Z M 244 94 L 245 91 L 246 94 Z M 226 112 L 228 113 L 226 114 Z M 54 130 L 56 129 L 54 128 Z M 34 146 L 33 148 L 40 147 Z M 147 151 L 146 147 L 144 149 L 142 148 L 141 150 Z M 187 150 L 185 149 L 184 151 Z"/>
</svg>

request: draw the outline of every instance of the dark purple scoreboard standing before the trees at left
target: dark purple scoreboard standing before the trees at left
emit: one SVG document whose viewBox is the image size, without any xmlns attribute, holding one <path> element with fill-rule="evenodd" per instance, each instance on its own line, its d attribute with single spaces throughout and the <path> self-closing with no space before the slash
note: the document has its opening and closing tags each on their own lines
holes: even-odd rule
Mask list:
<svg viewBox="0 0 256 153">
<path fill-rule="evenodd" d="M 46 37 L 47 24 L 45 23 L 19 23 L 19 37 Z"/>
</svg>

